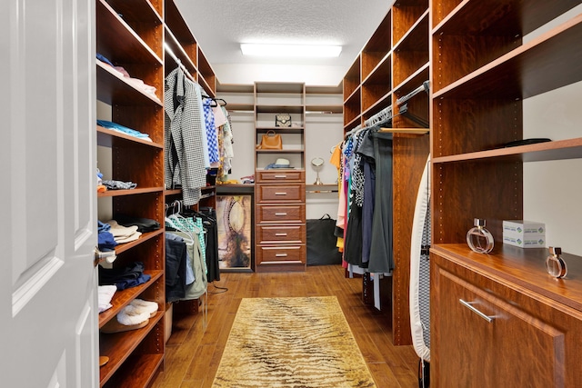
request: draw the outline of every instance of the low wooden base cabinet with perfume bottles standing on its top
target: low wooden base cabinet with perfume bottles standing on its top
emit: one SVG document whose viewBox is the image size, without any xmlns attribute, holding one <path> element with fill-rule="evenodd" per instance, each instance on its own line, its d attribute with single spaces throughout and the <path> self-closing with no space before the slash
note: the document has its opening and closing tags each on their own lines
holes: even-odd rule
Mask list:
<svg viewBox="0 0 582 388">
<path fill-rule="evenodd" d="M 431 383 L 437 387 L 577 386 L 582 351 L 579 279 L 556 281 L 546 249 L 503 257 L 463 244 L 431 254 Z M 506 266 L 511 266 L 507 271 Z M 582 269 L 576 265 L 576 271 Z M 564 293 L 573 281 L 577 289 Z M 572 301 L 562 300 L 565 296 Z"/>
</svg>

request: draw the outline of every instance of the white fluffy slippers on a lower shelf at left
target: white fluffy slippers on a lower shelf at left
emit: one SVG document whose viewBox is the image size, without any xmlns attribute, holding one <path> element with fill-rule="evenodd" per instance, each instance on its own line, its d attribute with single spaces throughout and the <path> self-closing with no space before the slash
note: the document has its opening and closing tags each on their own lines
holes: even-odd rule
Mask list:
<svg viewBox="0 0 582 388">
<path fill-rule="evenodd" d="M 156 315 L 157 309 L 156 302 L 134 299 L 117 313 L 115 319 L 105 323 L 101 328 L 101 333 L 121 333 L 141 329 L 149 323 L 150 318 Z"/>
</svg>

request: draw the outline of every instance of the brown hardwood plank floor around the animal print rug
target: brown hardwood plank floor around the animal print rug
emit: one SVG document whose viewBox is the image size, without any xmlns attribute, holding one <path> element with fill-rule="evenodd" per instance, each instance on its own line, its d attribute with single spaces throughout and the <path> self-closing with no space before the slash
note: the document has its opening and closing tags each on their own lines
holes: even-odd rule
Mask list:
<svg viewBox="0 0 582 388">
<path fill-rule="evenodd" d="M 412 346 L 393 346 L 386 312 L 362 303 L 362 279 L 346 279 L 339 265 L 309 266 L 306 273 L 222 273 L 208 285 L 206 330 L 203 308 L 174 315 L 166 343 L 165 370 L 156 388 L 211 387 L 241 298 L 336 295 L 378 388 L 418 386 Z M 389 311 L 388 308 L 385 309 Z M 235 388 L 235 387 L 233 387 Z"/>
</svg>

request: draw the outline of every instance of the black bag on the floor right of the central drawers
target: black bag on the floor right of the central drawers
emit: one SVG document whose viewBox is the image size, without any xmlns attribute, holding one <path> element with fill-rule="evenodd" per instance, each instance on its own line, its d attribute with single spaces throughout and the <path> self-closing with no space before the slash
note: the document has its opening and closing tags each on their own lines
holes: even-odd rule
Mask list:
<svg viewBox="0 0 582 388">
<path fill-rule="evenodd" d="M 336 220 L 324 214 L 318 220 L 307 220 L 307 265 L 341 264 L 337 250 Z"/>
</svg>

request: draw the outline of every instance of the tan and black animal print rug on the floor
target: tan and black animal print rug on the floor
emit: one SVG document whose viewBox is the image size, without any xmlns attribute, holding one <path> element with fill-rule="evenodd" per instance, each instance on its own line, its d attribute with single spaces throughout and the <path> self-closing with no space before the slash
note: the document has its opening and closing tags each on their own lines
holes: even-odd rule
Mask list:
<svg viewBox="0 0 582 388">
<path fill-rule="evenodd" d="M 376 387 L 336 296 L 244 298 L 213 388 Z"/>
</svg>

